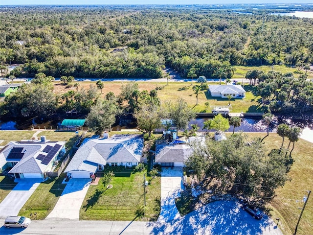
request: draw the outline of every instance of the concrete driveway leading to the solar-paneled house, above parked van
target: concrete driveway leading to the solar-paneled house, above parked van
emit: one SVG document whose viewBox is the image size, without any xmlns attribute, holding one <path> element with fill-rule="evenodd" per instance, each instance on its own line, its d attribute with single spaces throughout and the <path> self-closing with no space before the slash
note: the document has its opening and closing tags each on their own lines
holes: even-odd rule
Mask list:
<svg viewBox="0 0 313 235">
<path fill-rule="evenodd" d="M 18 215 L 28 198 L 43 180 L 27 178 L 16 179 L 16 182 L 18 182 L 18 184 L 0 203 L 0 218 Z"/>
</svg>

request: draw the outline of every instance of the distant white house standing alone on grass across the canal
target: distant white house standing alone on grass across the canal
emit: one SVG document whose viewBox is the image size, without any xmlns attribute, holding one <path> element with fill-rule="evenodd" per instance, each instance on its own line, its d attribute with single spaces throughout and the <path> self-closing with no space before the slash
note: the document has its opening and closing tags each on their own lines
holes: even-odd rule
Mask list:
<svg viewBox="0 0 313 235">
<path fill-rule="evenodd" d="M 244 98 L 246 91 L 241 85 L 210 85 L 209 91 L 213 97 L 227 98 L 230 94 L 233 98 Z"/>
</svg>

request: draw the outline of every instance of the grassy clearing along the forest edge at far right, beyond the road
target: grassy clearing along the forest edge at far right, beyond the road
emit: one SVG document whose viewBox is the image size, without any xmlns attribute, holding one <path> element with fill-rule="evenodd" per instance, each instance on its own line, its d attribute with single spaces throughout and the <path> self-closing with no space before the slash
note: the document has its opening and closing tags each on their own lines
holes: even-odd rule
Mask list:
<svg viewBox="0 0 313 235">
<path fill-rule="evenodd" d="M 294 77 L 299 77 L 299 73 L 297 73 L 298 68 L 292 68 L 285 65 L 263 65 L 263 66 L 234 66 L 236 71 L 234 72 L 234 75 L 232 78 L 243 78 L 243 76 L 246 74 L 249 70 L 260 70 L 264 72 L 268 71 L 276 71 L 281 73 L 287 73 L 292 72 Z M 305 74 L 305 70 L 300 70 L 303 74 Z M 295 73 L 296 72 L 296 73 Z M 307 72 L 308 78 L 313 78 L 313 71 L 308 70 Z"/>
</svg>

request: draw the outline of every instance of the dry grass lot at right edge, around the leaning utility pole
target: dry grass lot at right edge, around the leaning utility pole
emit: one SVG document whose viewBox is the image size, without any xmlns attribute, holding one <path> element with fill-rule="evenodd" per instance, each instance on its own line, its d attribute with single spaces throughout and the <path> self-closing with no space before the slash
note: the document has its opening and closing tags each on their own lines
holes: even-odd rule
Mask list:
<svg viewBox="0 0 313 235">
<path fill-rule="evenodd" d="M 249 139 L 254 137 L 263 138 L 266 133 L 246 133 Z M 264 140 L 265 147 L 269 151 L 273 148 L 280 148 L 282 138 L 275 133 L 270 133 Z M 288 139 L 284 142 L 284 146 L 287 148 L 289 144 Z M 291 143 L 292 147 L 292 143 Z M 290 147 L 290 149 L 291 149 Z M 270 203 L 270 206 L 274 208 L 270 211 L 272 218 L 280 218 L 279 227 L 285 235 L 294 233 L 295 226 L 297 224 L 301 210 L 303 207 L 302 198 L 304 195 L 308 195 L 307 190 L 313 190 L 313 144 L 299 140 L 295 142 L 295 147 L 292 151 L 292 157 L 294 163 L 291 166 L 289 176 L 291 181 L 287 181 L 283 188 L 276 189 L 276 197 Z M 310 196 L 303 212 L 297 235 L 313 234 L 313 197 Z M 298 200 L 298 202 L 296 202 Z"/>
</svg>

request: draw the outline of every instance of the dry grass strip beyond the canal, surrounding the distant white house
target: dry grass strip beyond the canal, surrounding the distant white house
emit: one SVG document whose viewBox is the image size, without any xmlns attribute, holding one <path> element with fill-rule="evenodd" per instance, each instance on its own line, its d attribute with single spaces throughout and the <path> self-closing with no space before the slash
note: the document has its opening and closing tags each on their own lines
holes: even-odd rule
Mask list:
<svg viewBox="0 0 313 235">
<path fill-rule="evenodd" d="M 147 90 L 148 92 L 157 89 L 157 95 L 161 102 L 173 100 L 177 98 L 184 98 L 190 107 L 196 112 L 211 112 L 211 109 L 206 109 L 204 105 L 205 102 L 209 102 L 211 107 L 214 106 L 227 106 L 229 101 L 226 98 L 212 97 L 207 90 L 201 91 L 198 95 L 198 105 L 196 106 L 196 94 L 192 90 L 191 82 L 170 82 L 166 86 L 166 82 L 137 82 L 139 85 L 139 90 Z M 54 82 L 55 92 L 58 94 L 66 93 L 69 90 L 74 90 L 74 88 L 66 88 L 66 86 L 61 85 L 62 83 Z M 115 95 L 120 94 L 120 87 L 123 83 L 120 82 L 105 82 L 104 88 L 102 89 L 101 96 L 104 98 L 105 94 L 113 92 Z M 208 85 L 218 85 L 219 82 L 208 82 Z M 95 82 L 80 82 L 80 89 L 88 89 L 90 85 L 95 86 Z M 200 85 L 199 83 L 193 82 L 194 85 Z M 246 85 L 244 89 L 247 91 L 246 97 L 241 99 L 231 99 L 230 104 L 232 107 L 231 112 L 263 112 L 263 108 L 259 105 L 259 96 L 255 96 L 255 87 Z M 100 93 L 100 91 L 99 91 Z"/>
</svg>

